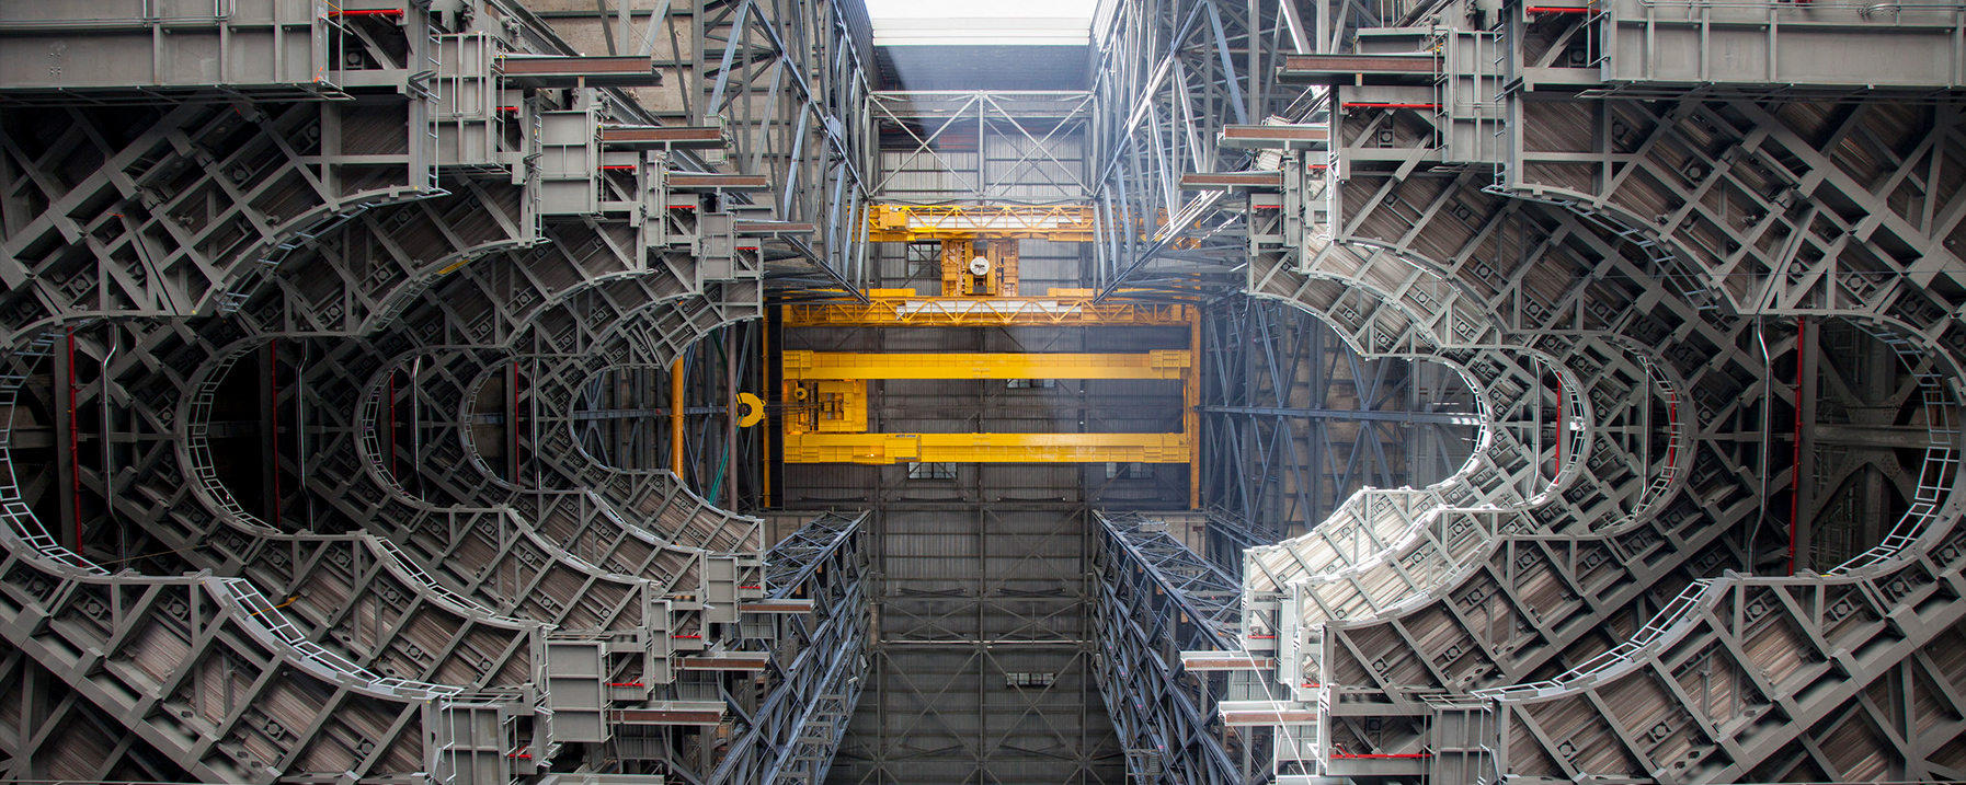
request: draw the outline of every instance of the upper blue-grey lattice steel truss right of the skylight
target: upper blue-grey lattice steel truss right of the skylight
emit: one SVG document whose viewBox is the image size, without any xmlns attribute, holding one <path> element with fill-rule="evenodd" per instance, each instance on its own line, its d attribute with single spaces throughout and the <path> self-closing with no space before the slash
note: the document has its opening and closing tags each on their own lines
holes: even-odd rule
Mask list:
<svg viewBox="0 0 1966 785">
<path fill-rule="evenodd" d="M 1225 126 L 1317 110 L 1315 90 L 1274 73 L 1286 55 L 1311 51 L 1323 6 L 1128 0 L 1101 16 L 1089 155 L 1105 228 L 1089 279 L 1101 296 L 1121 285 L 1235 285 L 1221 269 L 1239 257 L 1239 220 L 1211 210 L 1221 194 L 1189 198 L 1180 175 L 1250 165 L 1248 151 L 1217 143 Z"/>
</svg>

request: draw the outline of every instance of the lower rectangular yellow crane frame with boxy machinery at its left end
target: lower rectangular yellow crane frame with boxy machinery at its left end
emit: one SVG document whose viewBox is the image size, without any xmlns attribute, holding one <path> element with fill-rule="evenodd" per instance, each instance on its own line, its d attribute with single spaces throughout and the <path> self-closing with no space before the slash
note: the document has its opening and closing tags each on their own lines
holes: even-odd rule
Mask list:
<svg viewBox="0 0 1966 785">
<path fill-rule="evenodd" d="M 1174 379 L 1191 396 L 1193 355 L 1150 353 L 828 353 L 786 351 L 786 463 L 1191 463 L 1180 434 L 867 434 L 873 379 Z M 1193 406 L 1191 402 L 1187 404 Z"/>
</svg>

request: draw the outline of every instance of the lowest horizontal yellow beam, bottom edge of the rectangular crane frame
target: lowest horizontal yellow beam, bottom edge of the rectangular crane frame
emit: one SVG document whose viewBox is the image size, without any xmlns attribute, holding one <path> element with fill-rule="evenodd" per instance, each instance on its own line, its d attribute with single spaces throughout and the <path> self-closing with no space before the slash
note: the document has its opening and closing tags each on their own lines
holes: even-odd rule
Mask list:
<svg viewBox="0 0 1966 785">
<path fill-rule="evenodd" d="M 784 463 L 1187 463 L 1187 434 L 786 434 Z"/>
</svg>

